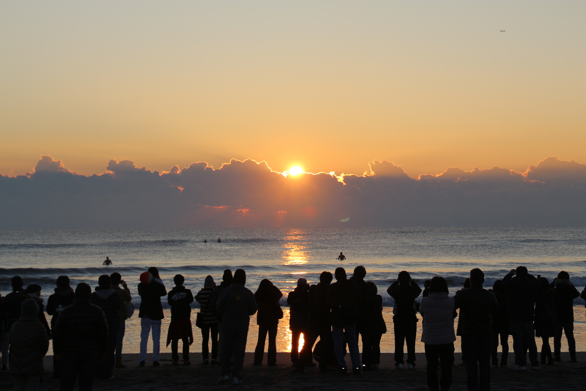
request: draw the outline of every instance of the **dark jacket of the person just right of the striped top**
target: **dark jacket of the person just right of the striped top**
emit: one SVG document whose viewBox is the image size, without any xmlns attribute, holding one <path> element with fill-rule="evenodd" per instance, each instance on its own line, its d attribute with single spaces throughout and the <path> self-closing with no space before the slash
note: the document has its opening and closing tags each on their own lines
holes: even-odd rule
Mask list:
<svg viewBox="0 0 586 391">
<path fill-rule="evenodd" d="M 234 283 L 222 291 L 216 308 L 222 313 L 222 330 L 248 331 L 250 317 L 256 313 L 258 305 L 248 288 Z"/>
</svg>

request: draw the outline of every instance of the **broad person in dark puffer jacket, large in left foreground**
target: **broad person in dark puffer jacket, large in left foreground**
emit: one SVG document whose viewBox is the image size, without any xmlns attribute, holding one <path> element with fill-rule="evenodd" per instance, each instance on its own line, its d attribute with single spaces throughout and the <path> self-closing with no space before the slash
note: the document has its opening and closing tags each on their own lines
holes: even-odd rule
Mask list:
<svg viewBox="0 0 586 391">
<path fill-rule="evenodd" d="M 90 297 L 90 285 L 77 284 L 73 304 L 61 311 L 53 328 L 54 351 L 63 360 L 60 391 L 72 391 L 76 378 L 80 391 L 91 391 L 96 365 L 107 356 L 108 324 Z"/>
</svg>

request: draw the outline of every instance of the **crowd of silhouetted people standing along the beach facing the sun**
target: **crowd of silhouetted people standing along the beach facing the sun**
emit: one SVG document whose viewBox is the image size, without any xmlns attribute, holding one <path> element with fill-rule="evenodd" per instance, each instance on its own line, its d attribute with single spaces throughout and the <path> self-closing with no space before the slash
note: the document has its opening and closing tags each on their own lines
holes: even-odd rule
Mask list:
<svg viewBox="0 0 586 391">
<path fill-rule="evenodd" d="M 320 372 L 336 368 L 341 374 L 348 370 L 362 373 L 379 368 L 380 340 L 387 332 L 382 314 L 383 299 L 377 294 L 376 284 L 364 278 L 366 269 L 363 266 L 357 266 L 350 278 L 342 267 L 336 268 L 333 276 L 323 271 L 315 285 L 299 278 L 295 290 L 287 295 L 291 362 L 295 372 L 304 372 L 305 368 L 316 365 Z M 183 365 L 191 364 L 194 300 L 200 305 L 195 324 L 202 333 L 202 364 L 221 366 L 219 382 L 242 383 L 250 317 L 254 314 L 257 314 L 258 325 L 254 365 L 263 363 L 267 336 L 267 364 L 277 364 L 276 338 L 279 320 L 284 317 L 280 305 L 283 294 L 270 280 L 262 280 L 253 293 L 245 286 L 244 270 L 237 269 L 232 274 L 227 269 L 220 285 L 216 285 L 212 276 L 207 276 L 194 298 L 192 291 L 183 286 L 185 278 L 180 274 L 173 278 L 175 286 L 169 291 L 156 267 L 149 268 L 139 279 L 139 366 L 147 365 L 149 335 L 153 345 L 152 366 L 160 365 L 164 318 L 161 298 L 165 296 L 171 307 L 166 346 L 171 344 L 172 365 L 179 365 L 179 341 L 182 342 Z M 573 301 L 578 296 L 586 300 L 586 289 L 580 294 L 567 272 L 561 271 L 550 283 L 547 278 L 536 278 L 526 267 L 519 266 L 502 280 L 496 280 L 492 289 L 483 288 L 484 282 L 484 273 L 475 268 L 470 271 L 464 287 L 450 297 L 444 278 L 436 276 L 425 281 L 422 291 L 407 271 L 401 271 L 387 289 L 394 299 L 396 368 L 415 369 L 417 365 L 417 312 L 423 318 L 421 340 L 425 346 L 427 382 L 431 391 L 447 391 L 451 386 L 456 336 L 461 338 L 468 390 L 490 389 L 491 363 L 495 367 L 507 366 L 509 335 L 513 336 L 517 370 L 527 369 L 527 352 L 533 370 L 540 370 L 541 364 L 553 365 L 561 361 L 563 333 L 570 361 L 577 361 Z M 86 283 L 77 284 L 73 290 L 69 278 L 60 276 L 46 308 L 39 285 L 30 284 L 25 289 L 18 276 L 13 277 L 11 283 L 12 293 L 0 297 L 0 355 L 2 371 L 8 371 L 9 366 L 15 390 L 38 389 L 49 339 L 53 340 L 52 379 L 60 380 L 62 391 L 73 390 L 76 380 L 80 390 L 91 390 L 94 378 L 111 379 L 114 368 L 125 366 L 121 359 L 125 321 L 132 316 L 134 305 L 128 285 L 119 273 L 100 276 L 94 290 Z M 422 292 L 423 298 L 417 302 Z M 45 310 L 52 317 L 50 325 Z M 304 342 L 299 351 L 301 335 Z M 535 337 L 541 338 L 540 357 Z M 550 338 L 554 340 L 553 352 Z M 500 362 L 499 344 L 502 346 Z M 441 368 L 439 379 L 438 368 Z"/>
</svg>

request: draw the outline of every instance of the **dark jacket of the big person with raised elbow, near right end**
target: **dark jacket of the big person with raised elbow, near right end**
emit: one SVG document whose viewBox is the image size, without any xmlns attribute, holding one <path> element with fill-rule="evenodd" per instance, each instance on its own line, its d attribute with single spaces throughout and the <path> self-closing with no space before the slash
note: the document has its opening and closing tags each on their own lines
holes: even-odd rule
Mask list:
<svg viewBox="0 0 586 391">
<path fill-rule="evenodd" d="M 509 319 L 533 321 L 537 278 L 531 274 L 515 276 L 509 273 L 503 278 L 503 288 L 507 291 L 507 310 Z"/>
</svg>

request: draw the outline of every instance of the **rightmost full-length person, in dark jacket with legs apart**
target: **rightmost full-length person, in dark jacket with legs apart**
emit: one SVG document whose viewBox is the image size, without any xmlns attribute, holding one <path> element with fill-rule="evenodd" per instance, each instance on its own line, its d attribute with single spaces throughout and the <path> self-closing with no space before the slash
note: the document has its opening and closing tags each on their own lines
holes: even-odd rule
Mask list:
<svg viewBox="0 0 586 391">
<path fill-rule="evenodd" d="M 576 340 L 574 339 L 574 299 L 580 296 L 580 292 L 570 281 L 570 274 L 567 271 L 560 271 L 557 278 L 551 283 L 556 292 L 557 327 L 553 338 L 554 361 L 561 361 L 561 332 L 564 331 L 568 339 L 568 350 L 570 361 L 576 362 Z"/>
</svg>

